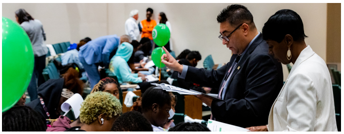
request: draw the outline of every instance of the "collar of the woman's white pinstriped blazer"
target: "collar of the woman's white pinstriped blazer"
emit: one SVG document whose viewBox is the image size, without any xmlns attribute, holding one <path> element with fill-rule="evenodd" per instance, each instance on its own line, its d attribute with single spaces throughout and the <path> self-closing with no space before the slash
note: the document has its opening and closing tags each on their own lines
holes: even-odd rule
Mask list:
<svg viewBox="0 0 344 134">
<path fill-rule="evenodd" d="M 294 72 L 294 70 L 300 66 L 301 63 L 312 57 L 314 54 L 315 52 L 312 50 L 311 46 L 307 46 L 304 50 L 302 50 L 294 66 L 292 67 L 292 70 L 290 71 L 288 78 Z"/>
</svg>

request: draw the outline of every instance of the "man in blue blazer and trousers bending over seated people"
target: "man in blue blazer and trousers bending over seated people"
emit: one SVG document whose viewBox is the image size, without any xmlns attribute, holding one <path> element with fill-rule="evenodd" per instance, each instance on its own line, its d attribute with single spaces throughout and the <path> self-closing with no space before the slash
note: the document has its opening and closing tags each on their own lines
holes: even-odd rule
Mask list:
<svg viewBox="0 0 344 134">
<path fill-rule="evenodd" d="M 79 60 L 88 75 L 91 89 L 100 80 L 98 66 L 109 67 L 111 52 L 117 51 L 118 45 L 122 42 L 131 42 L 130 37 L 126 37 L 118 37 L 117 35 L 102 36 L 80 47 Z"/>
</svg>

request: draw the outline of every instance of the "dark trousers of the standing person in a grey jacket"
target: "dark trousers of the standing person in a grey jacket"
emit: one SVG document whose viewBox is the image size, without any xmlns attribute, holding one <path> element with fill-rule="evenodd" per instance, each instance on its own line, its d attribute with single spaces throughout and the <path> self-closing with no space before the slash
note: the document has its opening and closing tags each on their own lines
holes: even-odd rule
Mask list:
<svg viewBox="0 0 344 134">
<path fill-rule="evenodd" d="M 28 84 L 27 92 L 30 96 L 30 100 L 34 100 L 38 98 L 37 88 L 45 82 L 43 77 L 43 69 L 45 67 L 45 56 L 34 57 L 34 67 L 32 72 L 31 81 Z"/>
</svg>

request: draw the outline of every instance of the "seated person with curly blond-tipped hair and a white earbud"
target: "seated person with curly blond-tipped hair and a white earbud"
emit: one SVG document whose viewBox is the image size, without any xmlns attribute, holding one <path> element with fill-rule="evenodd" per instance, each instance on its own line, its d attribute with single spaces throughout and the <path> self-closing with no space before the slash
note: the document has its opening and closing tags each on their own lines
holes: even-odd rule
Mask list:
<svg viewBox="0 0 344 134">
<path fill-rule="evenodd" d="M 107 92 L 94 92 L 87 95 L 80 108 L 81 127 L 72 127 L 67 132 L 110 131 L 113 122 L 122 112 L 119 100 Z"/>
</svg>

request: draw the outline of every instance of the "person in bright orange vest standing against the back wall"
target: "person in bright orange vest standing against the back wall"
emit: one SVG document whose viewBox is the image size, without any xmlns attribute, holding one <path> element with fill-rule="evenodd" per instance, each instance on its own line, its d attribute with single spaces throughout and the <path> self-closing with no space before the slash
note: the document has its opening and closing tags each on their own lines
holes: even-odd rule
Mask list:
<svg viewBox="0 0 344 134">
<path fill-rule="evenodd" d="M 152 31 L 153 31 L 153 28 L 156 26 L 156 21 L 150 19 L 152 17 L 152 14 L 153 14 L 153 9 L 147 8 L 146 11 L 147 11 L 147 13 L 146 13 L 147 19 L 142 20 L 140 22 L 140 27 L 142 28 L 141 38 L 143 38 L 143 37 L 149 38 L 151 40 L 152 48 L 153 48 Z M 151 53 L 152 53 L 152 51 L 149 52 L 149 54 L 151 54 Z"/>
</svg>

